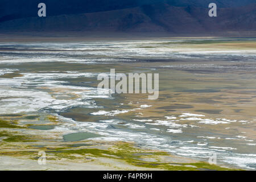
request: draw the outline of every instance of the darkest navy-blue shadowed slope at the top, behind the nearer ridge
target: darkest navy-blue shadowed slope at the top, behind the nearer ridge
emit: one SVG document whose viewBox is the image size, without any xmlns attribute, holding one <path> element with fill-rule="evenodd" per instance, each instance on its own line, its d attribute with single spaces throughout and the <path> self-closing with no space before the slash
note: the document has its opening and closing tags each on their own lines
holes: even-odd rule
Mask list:
<svg viewBox="0 0 256 182">
<path fill-rule="evenodd" d="M 47 15 L 54 16 L 121 10 L 155 3 L 207 8 L 209 3 L 214 2 L 218 7 L 238 7 L 255 3 L 255 0 L 1 0 L 0 22 L 37 16 L 41 2 L 47 5 Z"/>
</svg>

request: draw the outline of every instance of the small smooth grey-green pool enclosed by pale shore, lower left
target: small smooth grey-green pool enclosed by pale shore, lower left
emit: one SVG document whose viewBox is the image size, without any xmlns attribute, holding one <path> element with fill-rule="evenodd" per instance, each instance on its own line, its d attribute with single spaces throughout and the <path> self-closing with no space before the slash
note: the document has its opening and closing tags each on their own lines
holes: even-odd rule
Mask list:
<svg viewBox="0 0 256 182">
<path fill-rule="evenodd" d="M 96 137 L 102 137 L 102 136 L 94 133 L 87 133 L 87 132 L 71 133 L 71 134 L 63 135 L 63 139 L 65 142 L 76 142 L 76 141 L 80 141 L 88 138 L 96 138 Z"/>
</svg>

